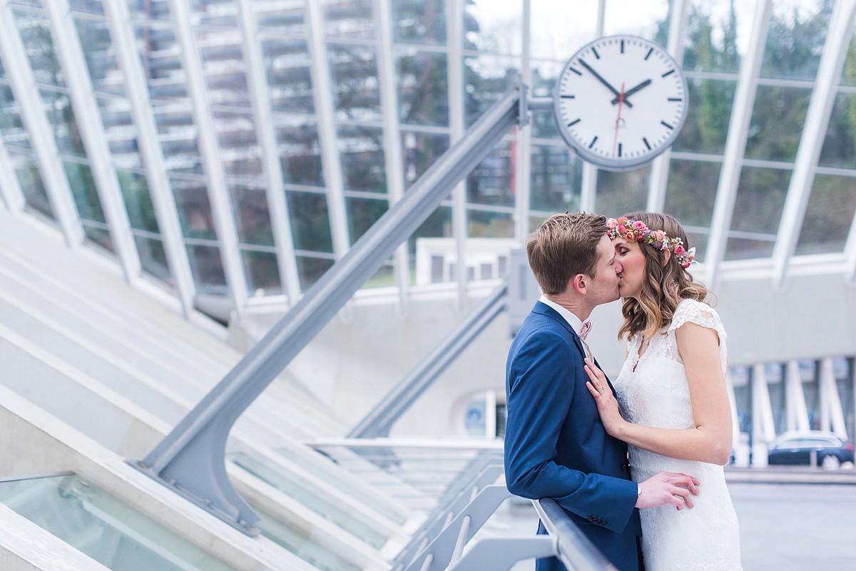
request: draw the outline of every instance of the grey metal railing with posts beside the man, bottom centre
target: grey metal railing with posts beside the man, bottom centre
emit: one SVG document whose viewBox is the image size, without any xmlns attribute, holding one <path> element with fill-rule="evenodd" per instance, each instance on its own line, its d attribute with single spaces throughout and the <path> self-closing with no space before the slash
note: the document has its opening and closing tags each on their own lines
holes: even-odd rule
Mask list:
<svg viewBox="0 0 856 571">
<path fill-rule="evenodd" d="M 425 521 L 392 560 L 390 571 L 501 571 L 524 559 L 550 556 L 559 557 L 568 571 L 617 571 L 550 498 L 532 500 L 532 520 L 537 514 L 546 535 L 536 535 L 534 527 L 526 535 L 477 534 L 512 497 L 497 483 L 502 480 L 502 441 L 324 439 L 312 446 L 355 475 L 376 479 L 375 485 L 404 503 L 425 509 Z M 378 469 L 383 462 L 385 468 Z M 379 473 L 387 481 L 377 481 Z"/>
</svg>

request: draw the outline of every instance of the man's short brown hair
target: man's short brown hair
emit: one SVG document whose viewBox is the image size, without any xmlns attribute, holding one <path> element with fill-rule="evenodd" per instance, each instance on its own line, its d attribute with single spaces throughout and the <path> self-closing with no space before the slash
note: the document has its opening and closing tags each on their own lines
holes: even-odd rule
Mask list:
<svg viewBox="0 0 856 571">
<path fill-rule="evenodd" d="M 606 217 L 576 212 L 552 215 L 526 238 L 529 267 L 541 291 L 557 295 L 576 274 L 597 273 L 597 244 L 606 233 Z"/>
</svg>

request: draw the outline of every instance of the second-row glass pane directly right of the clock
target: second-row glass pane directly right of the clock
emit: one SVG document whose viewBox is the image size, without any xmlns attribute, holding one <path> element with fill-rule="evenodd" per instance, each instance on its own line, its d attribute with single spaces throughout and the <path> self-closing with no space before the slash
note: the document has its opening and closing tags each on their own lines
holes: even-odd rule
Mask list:
<svg viewBox="0 0 856 571">
<path fill-rule="evenodd" d="M 696 79 L 689 81 L 687 121 L 675 139 L 675 150 L 722 154 L 734 103 L 734 81 Z"/>
</svg>

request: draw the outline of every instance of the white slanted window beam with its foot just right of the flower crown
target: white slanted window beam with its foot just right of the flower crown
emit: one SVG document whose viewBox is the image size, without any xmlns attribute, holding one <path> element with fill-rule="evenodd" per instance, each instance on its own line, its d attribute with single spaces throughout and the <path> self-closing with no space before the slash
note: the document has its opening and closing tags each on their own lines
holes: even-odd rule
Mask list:
<svg viewBox="0 0 856 571">
<path fill-rule="evenodd" d="M 746 136 L 752 121 L 752 109 L 758 91 L 758 73 L 764 57 L 767 30 L 770 27 L 770 7 L 770 0 L 755 4 L 755 19 L 752 21 L 752 33 L 749 35 L 752 41 L 740 64 L 740 79 L 737 81 L 734 104 L 731 106 L 731 121 L 728 122 L 722 170 L 719 173 L 719 184 L 716 185 L 713 219 L 710 221 L 710 239 L 704 253 L 704 281 L 713 290 L 716 290 L 718 284 L 719 266 L 725 257 L 728 231 L 734 216 L 740 169 L 746 153 Z"/>
</svg>

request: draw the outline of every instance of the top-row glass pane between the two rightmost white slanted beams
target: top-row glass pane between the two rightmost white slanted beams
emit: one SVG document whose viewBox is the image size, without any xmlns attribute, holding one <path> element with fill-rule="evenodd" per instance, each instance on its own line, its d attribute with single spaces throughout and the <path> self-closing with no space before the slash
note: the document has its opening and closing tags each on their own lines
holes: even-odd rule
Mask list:
<svg viewBox="0 0 856 571">
<path fill-rule="evenodd" d="M 832 3 L 775 0 L 761 77 L 814 79 L 831 12 Z"/>
</svg>

